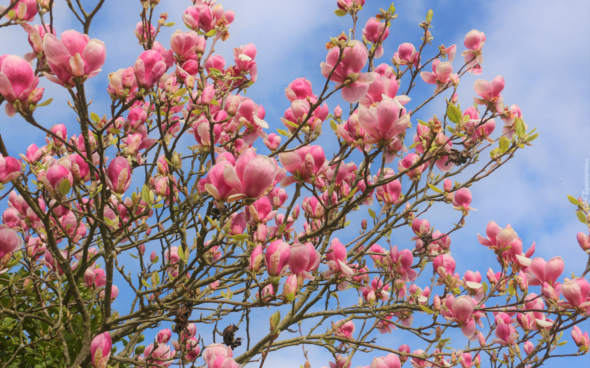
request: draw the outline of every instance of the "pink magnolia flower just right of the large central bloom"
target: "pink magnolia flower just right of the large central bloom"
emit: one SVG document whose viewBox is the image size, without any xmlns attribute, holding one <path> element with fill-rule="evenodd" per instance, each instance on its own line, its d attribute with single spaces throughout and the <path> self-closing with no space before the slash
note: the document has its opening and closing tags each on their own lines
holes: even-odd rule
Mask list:
<svg viewBox="0 0 590 368">
<path fill-rule="evenodd" d="M 306 145 L 296 151 L 278 154 L 281 165 L 293 176 L 285 177 L 281 187 L 287 187 L 295 181 L 309 183 L 312 175 L 322 174 L 327 170 L 326 155 L 319 145 Z"/>
</svg>

